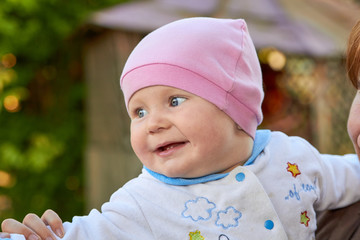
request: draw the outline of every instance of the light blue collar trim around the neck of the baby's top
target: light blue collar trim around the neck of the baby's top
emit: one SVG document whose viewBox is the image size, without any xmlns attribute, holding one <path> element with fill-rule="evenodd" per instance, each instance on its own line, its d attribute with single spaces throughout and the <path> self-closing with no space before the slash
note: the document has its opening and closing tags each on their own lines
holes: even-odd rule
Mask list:
<svg viewBox="0 0 360 240">
<path fill-rule="evenodd" d="M 252 150 L 252 154 L 250 158 L 246 161 L 244 166 L 251 165 L 255 162 L 255 159 L 259 156 L 259 154 L 264 150 L 266 145 L 269 143 L 271 138 L 271 131 L 270 130 L 257 130 L 254 140 L 254 146 Z M 229 173 L 215 173 L 210 174 L 198 178 L 170 178 L 160 173 L 151 171 L 147 167 L 144 166 L 144 169 L 150 173 L 151 176 L 160 180 L 161 182 L 170 184 L 170 185 L 177 185 L 177 186 L 186 186 L 186 185 L 193 185 L 198 183 L 205 183 L 210 181 L 215 181 L 221 178 L 226 177 Z"/>
</svg>

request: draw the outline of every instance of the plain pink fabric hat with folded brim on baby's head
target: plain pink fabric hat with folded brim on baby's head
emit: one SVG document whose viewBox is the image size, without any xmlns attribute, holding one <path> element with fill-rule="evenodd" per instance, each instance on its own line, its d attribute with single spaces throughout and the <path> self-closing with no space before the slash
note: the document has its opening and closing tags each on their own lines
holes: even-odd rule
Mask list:
<svg viewBox="0 0 360 240">
<path fill-rule="evenodd" d="M 120 85 L 128 106 L 138 90 L 176 87 L 215 104 L 252 138 L 262 121 L 262 75 L 244 20 L 187 18 L 147 35 L 129 56 Z"/>
</svg>

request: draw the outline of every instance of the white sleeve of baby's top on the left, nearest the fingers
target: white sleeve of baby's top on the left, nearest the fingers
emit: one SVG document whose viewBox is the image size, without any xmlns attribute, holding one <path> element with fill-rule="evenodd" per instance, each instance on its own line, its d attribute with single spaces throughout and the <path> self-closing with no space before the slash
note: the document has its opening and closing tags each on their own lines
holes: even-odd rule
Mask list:
<svg viewBox="0 0 360 240">
<path fill-rule="evenodd" d="M 65 222 L 62 239 L 153 239 L 141 208 L 125 189 L 115 192 L 101 210 Z"/>
</svg>

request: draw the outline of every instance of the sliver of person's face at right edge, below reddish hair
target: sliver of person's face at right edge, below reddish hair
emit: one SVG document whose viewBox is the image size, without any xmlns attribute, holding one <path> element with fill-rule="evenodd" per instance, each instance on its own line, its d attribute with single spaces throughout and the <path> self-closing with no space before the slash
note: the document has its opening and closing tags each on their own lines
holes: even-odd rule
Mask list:
<svg viewBox="0 0 360 240">
<path fill-rule="evenodd" d="M 360 90 L 357 91 L 351 105 L 348 119 L 348 132 L 360 159 Z"/>
</svg>

